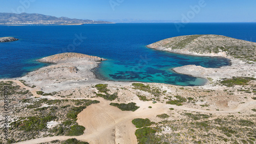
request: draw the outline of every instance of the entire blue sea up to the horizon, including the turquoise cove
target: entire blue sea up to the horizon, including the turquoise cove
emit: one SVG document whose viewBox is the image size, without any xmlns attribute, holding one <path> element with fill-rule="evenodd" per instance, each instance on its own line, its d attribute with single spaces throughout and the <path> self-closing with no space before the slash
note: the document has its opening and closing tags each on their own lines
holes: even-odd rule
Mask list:
<svg viewBox="0 0 256 144">
<path fill-rule="evenodd" d="M 0 26 L 0 37 L 18 41 L 0 43 L 0 78 L 26 75 L 45 63 L 36 59 L 65 52 L 99 56 L 94 69 L 104 80 L 203 85 L 206 80 L 174 73 L 178 66 L 220 67 L 220 57 L 178 55 L 145 45 L 182 35 L 216 34 L 256 42 L 256 23 L 188 23 L 178 31 L 175 23 L 116 23 L 82 26 Z"/>
</svg>

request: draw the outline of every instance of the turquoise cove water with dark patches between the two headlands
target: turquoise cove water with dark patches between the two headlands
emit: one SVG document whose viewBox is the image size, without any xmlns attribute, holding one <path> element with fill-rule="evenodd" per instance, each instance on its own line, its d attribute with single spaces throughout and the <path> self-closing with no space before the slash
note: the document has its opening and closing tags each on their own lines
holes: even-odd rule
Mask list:
<svg viewBox="0 0 256 144">
<path fill-rule="evenodd" d="M 148 49 L 143 47 L 142 49 Z M 221 57 L 196 57 L 168 52 L 150 51 L 136 60 L 108 60 L 94 71 L 99 79 L 130 82 L 155 82 L 174 85 L 204 85 L 207 80 L 175 73 L 172 68 L 187 64 L 220 67 L 229 61 Z"/>
</svg>

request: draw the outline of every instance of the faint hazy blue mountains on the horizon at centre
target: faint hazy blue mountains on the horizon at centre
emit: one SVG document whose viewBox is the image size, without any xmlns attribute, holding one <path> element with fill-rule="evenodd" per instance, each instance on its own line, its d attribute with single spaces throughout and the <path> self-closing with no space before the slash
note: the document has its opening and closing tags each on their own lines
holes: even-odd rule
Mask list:
<svg viewBox="0 0 256 144">
<path fill-rule="evenodd" d="M 181 20 L 142 20 L 142 19 L 97 19 L 103 21 L 112 21 L 116 23 L 164 23 L 164 22 L 181 22 Z"/>
</svg>

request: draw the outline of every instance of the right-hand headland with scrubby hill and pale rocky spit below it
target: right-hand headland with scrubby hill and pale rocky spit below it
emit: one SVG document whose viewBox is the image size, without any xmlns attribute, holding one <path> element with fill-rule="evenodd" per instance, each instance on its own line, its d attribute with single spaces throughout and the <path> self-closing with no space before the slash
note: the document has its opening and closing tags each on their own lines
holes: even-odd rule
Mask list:
<svg viewBox="0 0 256 144">
<path fill-rule="evenodd" d="M 197 65 L 176 67 L 176 73 L 210 80 L 204 87 L 214 88 L 213 83 L 224 78 L 256 78 L 256 43 L 221 35 L 187 35 L 167 38 L 147 45 L 148 48 L 177 54 L 195 56 L 220 56 L 230 59 L 231 65 L 205 68 Z"/>
</svg>

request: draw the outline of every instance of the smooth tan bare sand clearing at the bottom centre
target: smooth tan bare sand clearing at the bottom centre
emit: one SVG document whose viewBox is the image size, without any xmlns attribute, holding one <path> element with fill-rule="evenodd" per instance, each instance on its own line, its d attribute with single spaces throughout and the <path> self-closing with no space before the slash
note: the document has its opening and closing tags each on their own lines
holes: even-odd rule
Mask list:
<svg viewBox="0 0 256 144">
<path fill-rule="evenodd" d="M 133 102 L 140 106 L 134 112 L 121 111 L 110 106 L 111 102 L 99 98 L 100 103 L 88 106 L 78 114 L 78 124 L 86 127 L 84 135 L 89 143 L 137 143 L 135 136 L 136 127 L 132 124 L 134 118 L 155 117 L 158 113 L 164 113 L 168 110 L 167 106 L 155 104 L 152 102 L 141 102 L 135 99 Z"/>
</svg>

